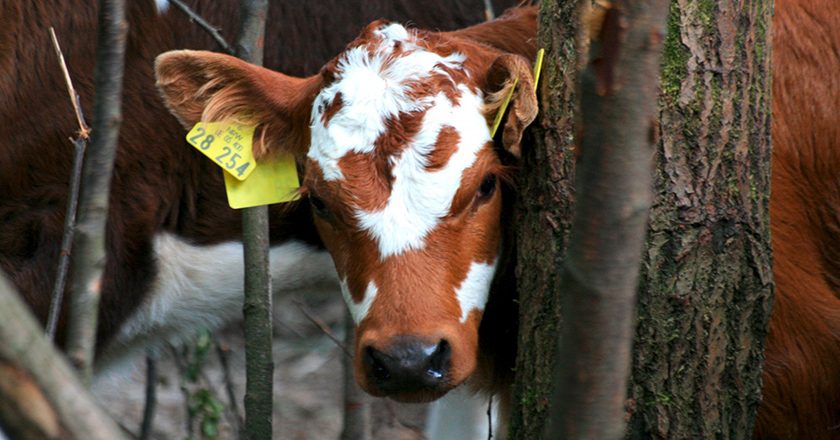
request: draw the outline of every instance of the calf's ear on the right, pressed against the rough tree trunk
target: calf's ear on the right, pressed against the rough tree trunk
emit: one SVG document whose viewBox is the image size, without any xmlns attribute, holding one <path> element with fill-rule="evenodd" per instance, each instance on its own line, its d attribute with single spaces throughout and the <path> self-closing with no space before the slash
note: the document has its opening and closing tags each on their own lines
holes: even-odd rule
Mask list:
<svg viewBox="0 0 840 440">
<path fill-rule="evenodd" d="M 511 88 L 514 89 L 507 116 L 502 119 L 498 130 L 502 133 L 502 145 L 505 150 L 518 158 L 521 155 L 522 132 L 531 125 L 538 111 L 531 65 L 519 55 L 500 55 L 490 65 L 485 84 L 485 116 L 491 127 Z"/>
</svg>

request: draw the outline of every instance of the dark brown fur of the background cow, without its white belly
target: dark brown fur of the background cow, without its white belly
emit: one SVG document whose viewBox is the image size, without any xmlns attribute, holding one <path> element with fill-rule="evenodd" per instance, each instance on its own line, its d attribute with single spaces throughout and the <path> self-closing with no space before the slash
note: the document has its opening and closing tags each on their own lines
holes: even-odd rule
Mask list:
<svg viewBox="0 0 840 440">
<path fill-rule="evenodd" d="M 233 40 L 238 2 L 187 3 Z M 294 75 L 313 74 L 359 27 L 380 16 L 457 29 L 481 21 L 481 11 L 480 0 L 447 7 L 410 0 L 275 0 L 269 7 L 265 62 Z M 56 28 L 70 76 L 90 118 L 96 2 L 8 0 L 0 2 L 0 20 L 0 268 L 43 320 L 67 203 L 72 162 L 68 138 L 78 129 L 46 28 Z M 218 168 L 185 144 L 183 127 L 166 111 L 154 87 L 153 60 L 158 54 L 173 49 L 217 49 L 216 44 L 174 7 L 158 16 L 152 0 L 127 2 L 127 21 L 124 121 L 110 196 L 100 347 L 150 287 L 156 272 L 155 234 L 167 231 L 197 244 L 238 239 L 240 234 L 241 214 L 227 206 Z M 228 109 L 223 106 L 210 113 L 223 114 Z M 261 136 L 271 140 L 284 135 L 271 130 Z M 274 206 L 271 218 L 272 242 L 295 236 L 319 243 L 305 201 L 291 207 Z M 59 340 L 64 324 L 62 319 Z"/>
</svg>

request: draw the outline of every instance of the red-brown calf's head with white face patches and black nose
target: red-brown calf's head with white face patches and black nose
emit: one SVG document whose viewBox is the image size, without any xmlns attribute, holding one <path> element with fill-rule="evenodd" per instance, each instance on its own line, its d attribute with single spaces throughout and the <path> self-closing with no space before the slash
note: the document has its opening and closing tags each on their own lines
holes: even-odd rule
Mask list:
<svg viewBox="0 0 840 440">
<path fill-rule="evenodd" d="M 473 373 L 502 246 L 500 180 L 536 114 L 525 58 L 378 21 L 309 78 L 209 52 L 170 52 L 156 68 L 185 126 L 249 122 L 258 160 L 296 157 L 358 325 L 365 390 L 432 400 Z M 496 144 L 488 125 L 513 79 Z"/>
</svg>

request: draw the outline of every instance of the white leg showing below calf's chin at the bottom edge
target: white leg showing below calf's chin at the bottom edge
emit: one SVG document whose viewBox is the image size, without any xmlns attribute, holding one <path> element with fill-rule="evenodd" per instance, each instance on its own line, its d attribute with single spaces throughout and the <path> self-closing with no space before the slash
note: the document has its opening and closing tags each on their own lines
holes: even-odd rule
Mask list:
<svg viewBox="0 0 840 440">
<path fill-rule="evenodd" d="M 489 402 L 489 397 L 474 394 L 463 385 L 450 391 L 429 406 L 426 436 L 429 440 L 486 440 L 490 423 L 487 417 Z M 500 424 L 495 400 L 491 414 L 493 438 L 502 439 L 505 433 L 496 430 Z"/>
</svg>

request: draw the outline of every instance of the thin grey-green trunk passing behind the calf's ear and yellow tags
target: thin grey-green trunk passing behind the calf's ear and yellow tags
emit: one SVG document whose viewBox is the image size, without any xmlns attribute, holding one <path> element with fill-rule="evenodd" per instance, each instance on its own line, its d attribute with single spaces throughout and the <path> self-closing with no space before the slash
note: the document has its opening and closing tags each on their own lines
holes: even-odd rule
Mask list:
<svg viewBox="0 0 840 440">
<path fill-rule="evenodd" d="M 267 0 L 243 0 L 236 54 L 262 65 Z M 271 278 L 268 272 L 268 208 L 242 212 L 245 253 L 245 438 L 272 437 L 274 361 L 272 359 Z"/>
</svg>

